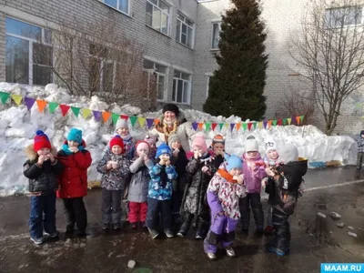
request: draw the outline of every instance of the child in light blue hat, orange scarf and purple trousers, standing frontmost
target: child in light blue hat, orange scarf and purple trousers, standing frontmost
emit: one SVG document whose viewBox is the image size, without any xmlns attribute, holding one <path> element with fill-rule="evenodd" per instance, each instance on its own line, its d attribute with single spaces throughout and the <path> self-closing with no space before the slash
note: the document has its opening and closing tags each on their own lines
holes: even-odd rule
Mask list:
<svg viewBox="0 0 364 273">
<path fill-rule="evenodd" d="M 227 156 L 228 157 L 228 156 Z M 231 247 L 240 217 L 239 198 L 244 197 L 242 162 L 231 156 L 222 164 L 207 187 L 207 202 L 211 209 L 211 226 L 204 240 L 204 250 L 210 259 L 216 258 L 217 244 L 227 250 L 227 256 L 235 257 Z"/>
</svg>

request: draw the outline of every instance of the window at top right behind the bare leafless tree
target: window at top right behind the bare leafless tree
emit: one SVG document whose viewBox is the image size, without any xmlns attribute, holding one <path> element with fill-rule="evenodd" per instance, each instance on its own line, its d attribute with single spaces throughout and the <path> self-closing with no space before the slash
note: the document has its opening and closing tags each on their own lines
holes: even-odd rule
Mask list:
<svg viewBox="0 0 364 273">
<path fill-rule="evenodd" d="M 329 27 L 360 25 L 361 18 L 362 7 L 359 6 L 329 8 L 325 11 L 325 25 Z"/>
</svg>

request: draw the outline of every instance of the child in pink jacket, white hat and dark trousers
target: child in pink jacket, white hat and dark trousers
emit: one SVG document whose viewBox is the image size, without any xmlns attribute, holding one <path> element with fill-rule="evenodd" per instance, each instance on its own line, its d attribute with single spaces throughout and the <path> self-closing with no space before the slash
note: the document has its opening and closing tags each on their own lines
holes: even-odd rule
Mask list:
<svg viewBox="0 0 364 273">
<path fill-rule="evenodd" d="M 250 222 L 250 207 L 256 221 L 257 232 L 264 232 L 264 212 L 260 202 L 261 180 L 267 176 L 265 164 L 258 152 L 258 141 L 254 136 L 248 136 L 244 143 L 245 153 L 242 156 L 244 183 L 247 196 L 240 198 L 241 228 L 248 232 Z"/>
</svg>

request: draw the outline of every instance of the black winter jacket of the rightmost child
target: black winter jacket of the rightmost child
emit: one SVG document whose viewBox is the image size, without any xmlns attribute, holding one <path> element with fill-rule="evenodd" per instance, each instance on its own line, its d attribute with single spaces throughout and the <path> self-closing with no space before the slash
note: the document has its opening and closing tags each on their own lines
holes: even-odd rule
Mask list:
<svg viewBox="0 0 364 273">
<path fill-rule="evenodd" d="M 302 177 L 306 175 L 307 170 L 307 160 L 289 162 L 287 165 L 278 167 L 278 175 L 268 179 L 266 187 L 269 205 L 288 215 L 293 214 L 298 190 L 303 181 Z"/>
</svg>

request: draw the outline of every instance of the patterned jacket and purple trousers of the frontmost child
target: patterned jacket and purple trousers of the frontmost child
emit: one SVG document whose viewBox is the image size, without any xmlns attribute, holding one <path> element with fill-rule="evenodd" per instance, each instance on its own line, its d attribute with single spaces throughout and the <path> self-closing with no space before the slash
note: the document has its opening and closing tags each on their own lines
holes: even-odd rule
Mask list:
<svg viewBox="0 0 364 273">
<path fill-rule="evenodd" d="M 225 169 L 225 166 L 220 168 Z M 238 200 L 244 197 L 246 188 L 228 182 L 217 172 L 207 188 L 207 202 L 211 209 L 211 226 L 204 240 L 206 253 L 216 253 L 217 244 L 228 248 L 234 241 L 235 229 L 240 217 Z"/>
</svg>

